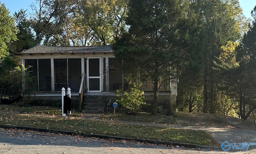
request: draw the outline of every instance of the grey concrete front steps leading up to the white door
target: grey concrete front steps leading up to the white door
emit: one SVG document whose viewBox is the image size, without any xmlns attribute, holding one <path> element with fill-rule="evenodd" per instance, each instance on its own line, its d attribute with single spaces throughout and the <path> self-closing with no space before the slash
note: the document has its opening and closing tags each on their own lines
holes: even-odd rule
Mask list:
<svg viewBox="0 0 256 154">
<path fill-rule="evenodd" d="M 89 96 L 84 97 L 82 112 L 86 113 L 104 113 L 105 100 L 104 96 Z"/>
</svg>

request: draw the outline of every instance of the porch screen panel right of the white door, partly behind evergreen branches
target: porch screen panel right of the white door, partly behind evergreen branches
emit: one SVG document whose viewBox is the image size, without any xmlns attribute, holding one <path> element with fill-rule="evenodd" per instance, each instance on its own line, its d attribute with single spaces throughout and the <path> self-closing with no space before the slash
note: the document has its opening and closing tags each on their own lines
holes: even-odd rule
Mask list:
<svg viewBox="0 0 256 154">
<path fill-rule="evenodd" d="M 109 91 L 128 90 L 128 82 L 123 78 L 122 64 L 116 58 L 108 59 Z M 124 82 L 124 83 L 123 83 Z M 122 87 L 124 85 L 124 87 Z"/>
</svg>

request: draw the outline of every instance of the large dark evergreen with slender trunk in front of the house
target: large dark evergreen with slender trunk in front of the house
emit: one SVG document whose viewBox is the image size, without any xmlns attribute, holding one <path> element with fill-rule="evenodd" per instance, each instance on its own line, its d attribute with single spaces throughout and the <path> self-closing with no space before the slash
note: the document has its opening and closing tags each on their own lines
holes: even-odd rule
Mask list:
<svg viewBox="0 0 256 154">
<path fill-rule="evenodd" d="M 124 70 L 144 73 L 153 81 L 152 114 L 157 114 L 159 88 L 176 78 L 186 57 L 186 38 L 191 29 L 189 2 L 184 0 L 130 0 L 128 33 L 116 38 L 114 54 L 123 60 Z M 126 67 L 128 66 L 128 67 Z"/>
</svg>

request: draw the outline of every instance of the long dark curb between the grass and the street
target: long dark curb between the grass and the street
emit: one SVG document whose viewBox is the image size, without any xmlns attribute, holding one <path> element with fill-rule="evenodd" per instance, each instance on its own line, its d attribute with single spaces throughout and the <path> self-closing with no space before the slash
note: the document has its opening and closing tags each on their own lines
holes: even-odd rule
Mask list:
<svg viewBox="0 0 256 154">
<path fill-rule="evenodd" d="M 77 132 L 68 132 L 68 131 L 63 131 L 63 130 L 51 130 L 51 129 L 33 128 L 33 127 L 24 127 L 24 126 L 0 125 L 0 128 L 32 130 L 32 131 L 38 131 L 38 132 L 49 132 L 49 133 L 54 133 L 54 134 L 81 135 L 81 136 L 85 136 L 85 137 L 95 137 L 95 138 L 100 138 L 100 139 L 112 138 L 114 140 L 130 140 L 130 141 L 137 141 L 137 142 L 150 143 L 150 144 L 184 146 L 184 147 L 187 147 L 187 148 L 220 149 L 217 146 L 202 146 L 202 145 L 199 145 L 199 144 L 192 144 L 192 143 L 180 143 L 180 142 L 161 141 L 161 140 L 144 140 L 144 139 L 138 139 L 138 138 L 126 138 L 126 137 L 119 137 L 119 136 L 77 133 Z"/>
</svg>

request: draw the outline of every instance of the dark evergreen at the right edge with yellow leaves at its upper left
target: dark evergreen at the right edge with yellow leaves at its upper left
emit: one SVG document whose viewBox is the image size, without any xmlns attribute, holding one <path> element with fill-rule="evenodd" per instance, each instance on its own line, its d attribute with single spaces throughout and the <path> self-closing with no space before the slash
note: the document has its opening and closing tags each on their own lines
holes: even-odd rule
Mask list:
<svg viewBox="0 0 256 154">
<path fill-rule="evenodd" d="M 252 16 L 256 12 L 256 6 L 252 10 Z M 239 102 L 240 117 L 246 120 L 250 113 L 256 109 L 256 18 L 250 26 L 247 34 L 244 34 L 241 44 L 234 52 L 227 52 L 228 58 L 222 58 L 216 62 L 220 74 L 222 74 L 225 91 L 230 98 L 236 98 Z M 234 44 L 233 44 L 234 46 Z M 232 45 L 230 44 L 232 49 Z M 228 48 L 224 48 L 228 49 Z M 225 50 L 224 50 L 225 51 Z M 236 53 L 237 52 L 237 53 Z M 234 54 L 235 53 L 235 57 Z M 234 62 L 235 60 L 235 62 Z"/>
</svg>

